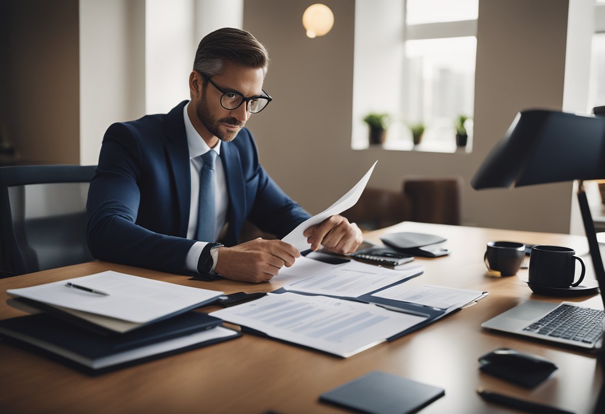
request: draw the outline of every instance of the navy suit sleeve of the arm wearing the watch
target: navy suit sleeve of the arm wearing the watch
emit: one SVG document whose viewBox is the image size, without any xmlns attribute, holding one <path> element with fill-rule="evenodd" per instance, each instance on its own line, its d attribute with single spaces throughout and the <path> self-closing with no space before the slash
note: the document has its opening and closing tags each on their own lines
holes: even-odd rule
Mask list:
<svg viewBox="0 0 605 414">
<path fill-rule="evenodd" d="M 185 257 L 195 240 L 136 224 L 141 198 L 137 183 L 144 169 L 136 134 L 125 123 L 111 125 L 88 191 L 88 246 L 100 260 L 185 274 Z"/>
</svg>

